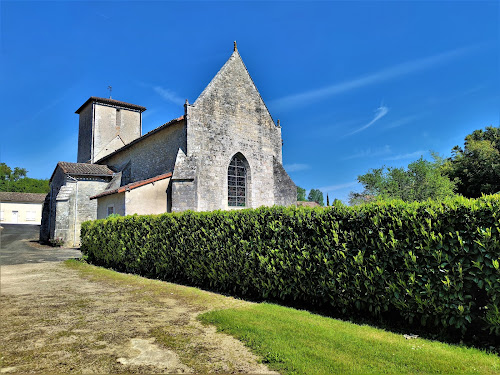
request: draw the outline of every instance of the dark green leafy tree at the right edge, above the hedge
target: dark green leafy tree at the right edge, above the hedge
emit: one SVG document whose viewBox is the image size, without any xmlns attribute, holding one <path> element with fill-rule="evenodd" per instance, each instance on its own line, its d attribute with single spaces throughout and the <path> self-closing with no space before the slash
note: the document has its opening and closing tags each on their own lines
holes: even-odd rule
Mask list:
<svg viewBox="0 0 500 375">
<path fill-rule="evenodd" d="M 474 130 L 464 148 L 455 146 L 446 172 L 457 179 L 457 192 L 468 198 L 500 191 L 500 127 Z"/>
</svg>

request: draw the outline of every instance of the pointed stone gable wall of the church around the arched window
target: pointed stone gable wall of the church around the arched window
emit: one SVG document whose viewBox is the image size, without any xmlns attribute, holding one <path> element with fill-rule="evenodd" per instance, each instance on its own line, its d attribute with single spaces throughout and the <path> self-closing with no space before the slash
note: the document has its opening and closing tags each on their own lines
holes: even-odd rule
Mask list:
<svg viewBox="0 0 500 375">
<path fill-rule="evenodd" d="M 189 208 L 232 209 L 228 206 L 227 173 L 237 153 L 245 157 L 249 166 L 249 207 L 276 204 L 276 192 L 280 196 L 296 196 L 295 186 L 275 189 L 274 163 L 282 163 L 281 129 L 275 126 L 237 51 L 195 103 L 187 106 L 186 112 L 187 157 L 197 159 L 193 182 L 197 186 L 197 204 Z M 283 173 L 286 174 L 284 170 Z M 174 177 L 183 178 L 176 172 Z M 276 181 L 281 180 L 283 176 Z M 174 205 L 178 199 L 175 187 L 174 183 Z M 284 191 L 287 188 L 288 194 Z"/>
</svg>

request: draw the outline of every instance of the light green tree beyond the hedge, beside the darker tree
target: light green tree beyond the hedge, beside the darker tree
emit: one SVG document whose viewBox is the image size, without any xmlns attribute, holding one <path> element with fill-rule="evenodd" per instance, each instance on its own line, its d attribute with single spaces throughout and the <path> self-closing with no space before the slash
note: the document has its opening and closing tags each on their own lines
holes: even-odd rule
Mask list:
<svg viewBox="0 0 500 375">
<path fill-rule="evenodd" d="M 358 176 L 364 191 L 351 193 L 349 202 L 360 204 L 375 199 L 412 202 L 452 196 L 456 183 L 445 175 L 444 160 L 436 154 L 432 156 L 432 162 L 420 158 L 407 168 L 382 167 Z"/>
</svg>

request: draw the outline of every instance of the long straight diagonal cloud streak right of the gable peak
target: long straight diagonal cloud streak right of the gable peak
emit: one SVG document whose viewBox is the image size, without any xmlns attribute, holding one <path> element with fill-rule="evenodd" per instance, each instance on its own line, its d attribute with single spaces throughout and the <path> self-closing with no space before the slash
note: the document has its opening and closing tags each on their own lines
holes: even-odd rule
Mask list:
<svg viewBox="0 0 500 375">
<path fill-rule="evenodd" d="M 402 64 L 391 66 L 386 69 L 379 70 L 378 72 L 372 74 L 352 79 L 350 81 L 333 84 L 315 90 L 305 91 L 299 94 L 288 95 L 283 98 L 273 100 L 270 102 L 270 104 L 280 109 L 306 105 L 314 100 L 323 99 L 328 96 L 341 94 L 346 91 L 358 89 L 360 87 L 374 85 L 376 83 L 387 81 L 393 78 L 433 68 L 439 64 L 444 64 L 460 56 L 471 53 L 478 47 L 479 45 L 467 46 L 408 61 Z"/>
</svg>

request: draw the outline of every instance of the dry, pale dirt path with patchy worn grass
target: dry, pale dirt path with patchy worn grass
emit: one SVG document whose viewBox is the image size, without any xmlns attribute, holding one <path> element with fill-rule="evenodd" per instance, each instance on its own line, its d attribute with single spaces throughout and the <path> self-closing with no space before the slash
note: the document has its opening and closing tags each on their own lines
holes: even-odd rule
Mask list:
<svg viewBox="0 0 500 375">
<path fill-rule="evenodd" d="M 88 269 L 1 267 L 2 373 L 269 373 L 239 341 L 196 320 L 209 306 L 246 302 Z"/>
</svg>

